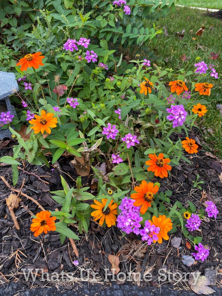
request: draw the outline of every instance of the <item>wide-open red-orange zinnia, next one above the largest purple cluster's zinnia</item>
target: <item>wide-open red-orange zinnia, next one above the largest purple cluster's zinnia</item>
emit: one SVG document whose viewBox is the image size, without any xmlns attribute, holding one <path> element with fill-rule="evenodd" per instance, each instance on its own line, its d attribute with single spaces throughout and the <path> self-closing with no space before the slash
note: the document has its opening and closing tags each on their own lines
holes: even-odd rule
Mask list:
<svg viewBox="0 0 222 296">
<path fill-rule="evenodd" d="M 158 157 L 156 154 L 149 154 L 151 160 L 147 160 L 145 163 L 149 165 L 148 171 L 154 172 L 156 177 L 164 178 L 168 176 L 168 170 L 171 170 L 171 166 L 167 163 L 170 162 L 169 158 L 163 158 L 163 153 L 160 153 Z"/>
</svg>

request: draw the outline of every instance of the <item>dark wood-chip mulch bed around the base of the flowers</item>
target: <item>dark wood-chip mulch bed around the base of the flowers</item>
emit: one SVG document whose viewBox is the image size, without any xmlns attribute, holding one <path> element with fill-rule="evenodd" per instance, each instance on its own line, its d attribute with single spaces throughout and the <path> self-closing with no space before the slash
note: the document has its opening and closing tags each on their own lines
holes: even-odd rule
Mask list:
<svg viewBox="0 0 222 296">
<path fill-rule="evenodd" d="M 2 155 L 10 155 L 12 148 L 9 142 L 1 149 Z M 188 155 L 186 155 L 188 156 Z M 150 272 L 152 274 L 152 281 L 149 283 L 141 282 L 138 285 L 141 287 L 150 285 L 159 287 L 160 284 L 173 284 L 174 281 L 159 283 L 157 271 L 160 268 L 165 268 L 170 273 L 176 272 L 192 272 L 199 270 L 205 274 L 212 284 L 221 285 L 222 271 L 222 182 L 219 180 L 218 175 L 221 173 L 222 163 L 209 152 L 200 151 L 198 155 L 189 157 L 192 165 L 180 161 L 180 165 L 173 167 L 171 176 L 169 178 L 160 179 L 155 178 L 153 181 L 161 183 L 160 190 L 172 190 L 173 194 L 170 197 L 172 204 L 179 200 L 185 206 L 188 206 L 188 200 L 191 200 L 197 207 L 204 206 L 200 203 L 203 190 L 208 194 L 208 199 L 216 203 L 219 215 L 216 221 L 206 219 L 201 223 L 201 232 L 194 231 L 193 236 L 202 236 L 202 244 L 210 246 L 210 255 L 203 263 L 198 261 L 191 267 L 185 266 L 182 261 L 182 255 L 190 255 L 191 250 L 186 247 L 187 239 L 183 236 L 180 229 L 171 235 L 181 237 L 181 245 L 179 248 L 172 247 L 170 241 L 165 241 L 163 244 L 156 243 L 153 247 L 148 247 L 146 243 L 142 242 L 134 234 L 126 235 L 122 238 L 122 234 L 117 227 L 104 229 L 98 223 L 91 221 L 88 234 L 78 233 L 78 226 L 73 224 L 70 228 L 78 234 L 80 240 L 76 242 L 79 256 L 74 256 L 72 247 L 68 239 L 61 245 L 59 234 L 51 232 L 40 237 L 34 237 L 30 231 L 30 210 L 36 214 L 41 209 L 25 197 L 21 197 L 23 204 L 15 209 L 15 215 L 20 225 L 20 230 L 15 229 L 14 222 L 11 218 L 9 209 L 6 205 L 6 200 L 11 193 L 10 189 L 0 179 L 0 284 L 7 284 L 9 281 L 22 281 L 27 286 L 39 285 L 45 286 L 43 281 L 33 280 L 25 281 L 21 269 L 25 268 L 44 268 L 44 271 L 52 272 L 71 272 L 73 273 L 72 279 L 67 282 L 58 281 L 57 285 L 67 286 L 71 284 L 81 283 L 80 271 L 82 276 L 86 276 L 86 269 L 90 268 L 91 272 L 98 272 L 96 277 L 97 283 L 102 283 L 105 278 L 105 268 L 108 268 L 111 273 L 111 264 L 108 260 L 108 255 L 119 255 L 120 258 L 120 271 L 122 272 L 141 272 L 144 274 Z M 69 164 L 72 157 L 64 157 L 59 160 L 60 168 L 55 168 L 51 172 L 45 166 L 26 165 L 25 171 L 20 170 L 19 180 L 16 189 L 20 189 L 23 179 L 25 178 L 25 185 L 22 192 L 32 197 L 41 204 L 46 210 L 61 209 L 61 205 L 57 204 L 51 197 L 49 191 L 62 189 L 60 174 L 66 178 L 70 186 L 75 186 L 73 179 L 77 178 L 75 169 Z M 44 184 L 34 175 L 28 173 L 33 172 L 41 177 L 43 180 L 49 182 Z M 65 174 L 65 173 L 67 174 Z M 204 184 L 200 184 L 202 189 L 193 188 L 193 180 L 196 180 L 197 174 L 200 175 L 200 180 Z M 6 181 L 12 186 L 12 169 L 10 166 L 0 166 L 0 176 L 4 176 Z M 92 178 L 93 176 L 91 176 Z M 91 184 L 90 177 L 82 177 L 82 184 L 87 186 Z M 19 251 L 18 251 L 19 250 Z M 72 261 L 78 259 L 79 266 L 74 266 Z M 109 276 L 111 278 L 111 276 Z M 49 279 L 47 286 L 53 286 L 55 283 Z M 176 284 L 176 287 L 184 288 L 188 286 L 187 282 L 181 280 Z"/>
</svg>

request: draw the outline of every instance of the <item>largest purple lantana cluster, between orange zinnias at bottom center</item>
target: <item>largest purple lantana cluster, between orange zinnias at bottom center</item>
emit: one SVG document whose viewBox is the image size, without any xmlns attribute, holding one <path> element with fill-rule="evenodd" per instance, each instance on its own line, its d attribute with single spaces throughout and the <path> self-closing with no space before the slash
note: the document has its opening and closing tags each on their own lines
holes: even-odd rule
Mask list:
<svg viewBox="0 0 222 296">
<path fill-rule="evenodd" d="M 117 227 L 127 234 L 133 232 L 139 234 L 139 228 L 141 227 L 140 222 L 143 221 L 143 218 L 140 217 L 140 207 L 133 205 L 135 200 L 132 200 L 128 197 L 124 197 L 119 205 L 121 210 L 120 215 L 117 217 Z"/>
</svg>

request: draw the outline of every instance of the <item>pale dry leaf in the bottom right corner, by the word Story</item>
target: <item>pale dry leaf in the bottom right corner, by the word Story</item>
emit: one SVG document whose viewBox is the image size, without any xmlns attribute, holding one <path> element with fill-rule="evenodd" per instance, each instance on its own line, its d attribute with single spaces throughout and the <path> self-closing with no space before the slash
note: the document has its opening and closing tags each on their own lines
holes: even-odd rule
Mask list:
<svg viewBox="0 0 222 296">
<path fill-rule="evenodd" d="M 197 276 L 198 279 L 196 281 Z M 209 279 L 207 279 L 206 276 L 200 276 L 199 271 L 194 271 L 190 274 L 188 284 L 190 285 L 190 288 L 197 294 L 209 295 L 215 292 L 213 289 L 208 287 L 208 285 L 210 285 Z"/>
</svg>

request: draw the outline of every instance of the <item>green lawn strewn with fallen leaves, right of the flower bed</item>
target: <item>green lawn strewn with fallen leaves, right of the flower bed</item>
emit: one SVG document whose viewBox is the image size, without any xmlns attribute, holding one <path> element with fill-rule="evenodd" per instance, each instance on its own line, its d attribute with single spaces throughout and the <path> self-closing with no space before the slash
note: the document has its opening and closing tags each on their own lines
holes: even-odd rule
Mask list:
<svg viewBox="0 0 222 296">
<path fill-rule="evenodd" d="M 158 28 L 165 26 L 168 33 L 168 36 L 161 34 L 157 39 L 155 46 L 155 54 L 159 59 L 157 65 L 175 70 L 184 68 L 194 71 L 195 59 L 200 56 L 201 61 L 204 60 L 208 64 L 212 62 L 215 69 L 218 70 L 219 78 L 210 81 L 213 83 L 214 89 L 209 97 L 210 104 L 207 105 L 208 112 L 204 121 L 201 122 L 201 129 L 205 130 L 203 132 L 205 141 L 211 147 L 208 149 L 214 149 L 217 155 L 222 157 L 222 115 L 216 110 L 216 104 L 222 104 L 222 20 L 207 17 L 198 9 L 176 7 L 175 13 L 171 12 L 166 18 L 160 19 L 159 22 L 156 21 L 155 24 L 158 25 Z M 205 30 L 199 37 L 195 32 L 202 26 L 205 26 Z M 185 30 L 184 38 L 180 39 L 175 33 L 181 33 L 182 30 Z M 211 52 L 220 52 L 220 57 L 212 60 Z M 186 61 L 181 60 L 183 54 L 186 55 Z"/>
</svg>

